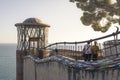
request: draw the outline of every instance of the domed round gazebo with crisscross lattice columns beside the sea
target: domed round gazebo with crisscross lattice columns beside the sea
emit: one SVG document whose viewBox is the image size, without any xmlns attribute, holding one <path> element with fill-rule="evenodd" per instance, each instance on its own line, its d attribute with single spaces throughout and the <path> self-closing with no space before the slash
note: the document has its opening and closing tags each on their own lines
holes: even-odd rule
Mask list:
<svg viewBox="0 0 120 80">
<path fill-rule="evenodd" d="M 17 51 L 16 51 L 16 80 L 23 80 L 23 58 L 28 54 L 40 55 L 39 50 L 47 46 L 48 24 L 38 18 L 28 18 L 22 23 L 16 23 L 17 27 Z"/>
</svg>

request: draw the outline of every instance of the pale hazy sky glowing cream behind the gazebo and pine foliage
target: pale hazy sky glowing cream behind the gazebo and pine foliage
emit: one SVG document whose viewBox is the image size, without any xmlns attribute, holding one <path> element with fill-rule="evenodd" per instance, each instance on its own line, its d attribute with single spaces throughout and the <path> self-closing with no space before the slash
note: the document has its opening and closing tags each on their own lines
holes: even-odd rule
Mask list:
<svg viewBox="0 0 120 80">
<path fill-rule="evenodd" d="M 0 43 L 17 43 L 16 23 L 35 17 L 49 24 L 48 42 L 84 41 L 116 31 L 95 32 L 80 21 L 82 11 L 69 0 L 0 0 Z"/>
</svg>

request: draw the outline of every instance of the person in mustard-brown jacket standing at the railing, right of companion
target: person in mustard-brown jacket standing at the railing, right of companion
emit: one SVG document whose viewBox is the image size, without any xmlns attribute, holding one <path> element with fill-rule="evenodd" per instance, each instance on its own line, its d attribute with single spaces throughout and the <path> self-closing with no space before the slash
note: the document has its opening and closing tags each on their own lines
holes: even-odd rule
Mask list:
<svg viewBox="0 0 120 80">
<path fill-rule="evenodd" d="M 100 51 L 97 41 L 94 41 L 94 45 L 92 46 L 92 60 L 96 61 L 98 59 L 98 52 Z"/>
</svg>

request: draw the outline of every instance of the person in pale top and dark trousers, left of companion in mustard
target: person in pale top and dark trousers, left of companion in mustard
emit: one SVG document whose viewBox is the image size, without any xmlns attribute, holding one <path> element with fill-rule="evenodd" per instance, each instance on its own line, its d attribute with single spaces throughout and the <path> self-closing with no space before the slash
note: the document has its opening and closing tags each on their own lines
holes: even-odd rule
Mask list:
<svg viewBox="0 0 120 80">
<path fill-rule="evenodd" d="M 92 53 L 92 48 L 91 48 L 91 45 L 90 45 L 90 41 L 88 41 L 87 44 L 85 44 L 84 48 L 83 48 L 84 61 L 90 61 L 91 60 L 91 53 Z"/>
</svg>

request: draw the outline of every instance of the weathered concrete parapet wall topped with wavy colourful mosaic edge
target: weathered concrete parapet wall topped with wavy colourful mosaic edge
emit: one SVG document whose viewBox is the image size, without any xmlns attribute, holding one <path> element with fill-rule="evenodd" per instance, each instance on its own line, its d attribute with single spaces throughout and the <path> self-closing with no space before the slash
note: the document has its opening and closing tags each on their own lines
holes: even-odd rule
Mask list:
<svg viewBox="0 0 120 80">
<path fill-rule="evenodd" d="M 104 62 L 105 60 L 102 63 Z M 117 68 L 112 68 L 113 66 L 99 66 L 94 62 L 75 62 L 62 56 L 45 59 L 26 56 L 23 76 L 24 80 L 120 80 L 120 63 L 118 64 Z"/>
</svg>

